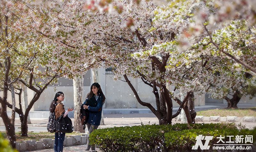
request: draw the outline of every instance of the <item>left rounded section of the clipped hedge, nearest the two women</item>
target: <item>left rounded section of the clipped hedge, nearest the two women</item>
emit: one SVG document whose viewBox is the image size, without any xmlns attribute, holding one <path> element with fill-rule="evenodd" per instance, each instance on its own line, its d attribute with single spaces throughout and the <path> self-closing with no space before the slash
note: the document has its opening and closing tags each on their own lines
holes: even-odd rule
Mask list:
<svg viewBox="0 0 256 152">
<path fill-rule="evenodd" d="M 97 129 L 89 138 L 92 144 L 103 151 L 158 151 L 164 147 L 164 133 L 171 127 L 140 125 Z"/>
</svg>

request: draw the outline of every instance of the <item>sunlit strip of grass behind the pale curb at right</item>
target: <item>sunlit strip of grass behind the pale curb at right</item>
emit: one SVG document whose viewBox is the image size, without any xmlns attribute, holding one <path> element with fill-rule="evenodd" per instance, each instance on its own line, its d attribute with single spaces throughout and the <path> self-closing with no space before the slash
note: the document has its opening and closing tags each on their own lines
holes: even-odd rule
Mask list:
<svg viewBox="0 0 256 152">
<path fill-rule="evenodd" d="M 253 116 L 256 117 L 256 107 L 252 108 L 238 108 L 238 109 L 212 109 L 212 110 L 204 110 L 204 111 L 196 111 L 197 116 Z"/>
</svg>

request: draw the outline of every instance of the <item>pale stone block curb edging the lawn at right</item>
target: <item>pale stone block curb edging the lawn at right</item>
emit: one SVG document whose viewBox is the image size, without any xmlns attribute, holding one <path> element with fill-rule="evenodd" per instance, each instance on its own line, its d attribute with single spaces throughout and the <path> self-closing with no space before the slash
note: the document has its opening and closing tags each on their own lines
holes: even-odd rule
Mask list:
<svg viewBox="0 0 256 152">
<path fill-rule="evenodd" d="M 174 118 L 173 121 L 181 121 L 181 115 Z M 196 116 L 195 121 L 199 122 L 256 122 L 256 117 L 237 117 L 237 116 Z"/>
</svg>

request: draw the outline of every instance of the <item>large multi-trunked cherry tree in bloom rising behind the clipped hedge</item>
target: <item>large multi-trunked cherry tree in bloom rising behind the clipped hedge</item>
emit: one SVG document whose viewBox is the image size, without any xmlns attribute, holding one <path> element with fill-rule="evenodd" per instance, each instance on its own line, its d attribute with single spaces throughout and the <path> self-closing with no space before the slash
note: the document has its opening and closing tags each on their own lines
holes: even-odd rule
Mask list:
<svg viewBox="0 0 256 152">
<path fill-rule="evenodd" d="M 151 1 L 112 1 L 111 4 L 105 2 L 91 1 L 86 5 L 87 9 L 101 18 L 101 24 L 97 24 L 96 19 L 91 23 L 92 31 L 100 31 L 99 35 L 96 35 L 98 37 L 92 41 L 95 45 L 101 46 L 102 52 L 108 52 L 103 55 L 103 58 L 107 60 L 106 66 L 113 67 L 115 78 L 120 79 L 122 75 L 124 76 L 138 102 L 156 114 L 160 124 L 170 123 L 171 99 L 176 99 L 180 105 L 183 103 L 167 89 L 167 84 L 187 90 L 188 95 L 191 96 L 193 96 L 191 91 L 206 92 L 204 88 L 209 87 L 208 82 L 218 71 L 216 69 L 222 68 L 218 62 L 227 59 L 226 48 L 228 51 L 237 52 L 236 56 L 239 56 L 240 61 L 246 60 L 251 63 L 255 61 L 251 49 L 254 46 L 248 45 L 250 43 L 248 41 L 252 40 L 254 35 L 253 30 L 248 31 L 253 28 L 248 27 L 243 20 L 216 26 L 209 24 L 210 21 L 207 23 L 205 18 L 210 16 L 207 13 L 214 15 L 218 12 L 218 8 L 214 6 L 215 3 L 210 1 L 171 1 L 167 6 L 159 8 L 156 8 Z M 110 10 L 113 8 L 117 12 L 111 13 Z M 201 13 L 201 15 L 195 16 L 195 13 Z M 109 20 L 112 22 L 109 23 Z M 239 38 L 243 39 L 238 41 Z M 224 52 L 220 50 L 220 46 Z M 247 53 L 241 56 L 241 52 Z M 221 53 L 224 53 L 224 56 Z M 208 59 L 200 59 L 205 55 Z M 211 64 L 209 64 L 209 58 L 214 58 Z M 233 61 L 226 60 L 226 62 L 236 70 L 241 69 L 241 66 L 233 64 Z M 219 66 L 217 67 L 216 64 Z M 201 67 L 201 69 L 195 67 Z M 204 75 L 205 77 L 201 76 L 201 73 L 195 74 L 202 71 L 210 74 Z M 160 97 L 155 94 L 157 110 L 140 100 L 127 76 L 141 78 L 145 84 L 154 89 L 153 93 L 158 93 L 157 89 L 160 89 Z M 198 78 L 193 78 L 195 76 Z M 228 72 L 223 74 L 222 79 L 227 76 Z M 187 95 L 185 99 L 187 100 Z M 161 101 L 160 104 L 158 100 Z M 161 108 L 163 108 L 162 111 Z M 158 113 L 159 111 L 161 114 Z M 161 122 L 162 120 L 164 122 Z"/>
</svg>

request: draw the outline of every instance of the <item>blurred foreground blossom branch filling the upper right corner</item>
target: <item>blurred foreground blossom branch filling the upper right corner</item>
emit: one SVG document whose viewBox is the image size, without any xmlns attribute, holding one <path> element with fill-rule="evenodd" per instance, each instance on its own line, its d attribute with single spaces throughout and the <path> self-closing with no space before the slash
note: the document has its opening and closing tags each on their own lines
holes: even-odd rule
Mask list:
<svg viewBox="0 0 256 152">
<path fill-rule="evenodd" d="M 255 75 L 255 57 L 253 57 L 255 55 L 255 51 L 253 51 L 255 49 L 255 1 L 176 2 L 177 5 L 174 5 L 176 8 L 181 10 L 184 7 L 189 8 L 190 17 L 194 18 L 188 27 L 180 29 L 178 45 L 181 48 L 187 49 L 195 43 L 195 40 L 205 37 L 208 39 L 204 43 L 205 47 L 209 45 L 212 46 L 211 48 L 215 48 L 213 50 L 204 48 L 200 50 L 200 53 L 207 51 L 222 57 L 229 57 Z M 172 12 L 173 3 L 170 2 L 168 5 L 169 7 L 158 9 L 156 23 L 162 24 L 170 19 L 169 13 Z M 241 40 L 238 42 L 240 37 Z M 245 51 L 244 48 L 247 50 Z"/>
</svg>

